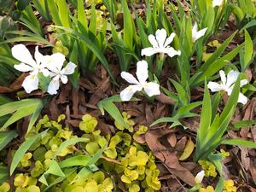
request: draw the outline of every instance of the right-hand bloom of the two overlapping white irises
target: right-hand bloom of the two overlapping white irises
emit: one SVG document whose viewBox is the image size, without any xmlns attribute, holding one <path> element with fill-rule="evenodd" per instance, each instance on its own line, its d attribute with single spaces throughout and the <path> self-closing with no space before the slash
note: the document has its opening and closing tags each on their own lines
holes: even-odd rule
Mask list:
<svg viewBox="0 0 256 192">
<path fill-rule="evenodd" d="M 44 56 L 44 63 L 49 68 L 49 76 L 52 78 L 47 90 L 51 95 L 57 94 L 60 80 L 63 84 L 67 84 L 67 75 L 74 73 L 75 67 L 77 67 L 73 62 L 68 62 L 67 66 L 62 68 L 64 61 L 66 61 L 65 55 L 61 53 Z"/>
</svg>

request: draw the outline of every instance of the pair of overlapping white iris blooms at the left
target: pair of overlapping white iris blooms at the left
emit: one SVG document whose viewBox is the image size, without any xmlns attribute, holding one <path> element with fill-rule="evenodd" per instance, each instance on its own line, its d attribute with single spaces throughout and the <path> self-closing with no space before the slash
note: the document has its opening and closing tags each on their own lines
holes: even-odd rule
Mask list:
<svg viewBox="0 0 256 192">
<path fill-rule="evenodd" d="M 38 51 L 38 46 L 35 49 L 35 60 L 24 44 L 15 45 L 12 48 L 12 55 L 21 61 L 19 65 L 15 65 L 15 69 L 20 72 L 30 72 L 22 83 L 27 93 L 38 90 L 40 84 L 38 75 L 42 73 L 45 78 L 51 79 L 47 91 L 51 95 L 56 94 L 56 90 L 60 87 L 60 80 L 63 84 L 67 84 L 67 75 L 74 73 L 76 67 L 75 64 L 69 62 L 66 67 L 62 68 L 66 61 L 65 55 L 61 53 L 42 55 Z"/>
</svg>

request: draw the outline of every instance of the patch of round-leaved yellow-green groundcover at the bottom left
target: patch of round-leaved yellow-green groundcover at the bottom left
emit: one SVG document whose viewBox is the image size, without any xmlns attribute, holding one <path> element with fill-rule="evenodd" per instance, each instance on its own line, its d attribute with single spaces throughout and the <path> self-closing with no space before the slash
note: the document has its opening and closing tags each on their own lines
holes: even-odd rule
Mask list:
<svg viewBox="0 0 256 192">
<path fill-rule="evenodd" d="M 14 183 L 1 181 L 0 191 L 9 192 L 14 186 L 15 192 L 112 192 L 119 191 L 118 183 L 129 192 L 160 189 L 154 155 L 135 141 L 148 128 L 140 125 L 131 135 L 134 122 L 124 114 L 131 130 L 118 131 L 112 137 L 102 136 L 96 129 L 97 119 L 90 114 L 83 116 L 78 132 L 64 125 L 65 115 L 57 120 L 45 115 L 26 135 L 24 143 L 36 138 L 27 150 L 21 153 L 22 143 L 12 151 L 13 160 L 21 153 L 13 171 Z"/>
</svg>

